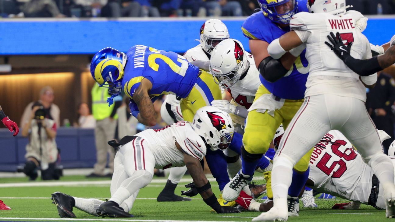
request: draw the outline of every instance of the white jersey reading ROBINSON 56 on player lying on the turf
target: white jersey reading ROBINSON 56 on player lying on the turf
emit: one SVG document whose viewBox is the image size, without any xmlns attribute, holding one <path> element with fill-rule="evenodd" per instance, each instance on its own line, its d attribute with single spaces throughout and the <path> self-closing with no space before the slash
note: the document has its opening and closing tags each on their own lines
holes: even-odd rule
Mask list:
<svg viewBox="0 0 395 222">
<path fill-rule="evenodd" d="M 351 143 L 331 130 L 314 146 L 308 179 L 314 189 L 344 199 L 368 203 L 373 170 L 365 164 Z M 384 207 L 385 208 L 385 207 Z"/>
</svg>

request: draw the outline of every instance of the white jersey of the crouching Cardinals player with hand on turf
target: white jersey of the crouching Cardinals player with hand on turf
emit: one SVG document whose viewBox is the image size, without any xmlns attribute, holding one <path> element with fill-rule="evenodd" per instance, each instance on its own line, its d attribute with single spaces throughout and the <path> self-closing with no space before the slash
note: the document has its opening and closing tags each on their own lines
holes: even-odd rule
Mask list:
<svg viewBox="0 0 395 222">
<path fill-rule="evenodd" d="M 175 146 L 176 141 L 182 151 L 198 160 L 206 154 L 205 143 L 190 122 L 180 121 L 160 130 L 144 130 L 135 136 L 142 137 L 149 144 L 144 148 L 150 149 L 154 155 L 156 169 L 185 166 L 184 154 Z"/>
</svg>

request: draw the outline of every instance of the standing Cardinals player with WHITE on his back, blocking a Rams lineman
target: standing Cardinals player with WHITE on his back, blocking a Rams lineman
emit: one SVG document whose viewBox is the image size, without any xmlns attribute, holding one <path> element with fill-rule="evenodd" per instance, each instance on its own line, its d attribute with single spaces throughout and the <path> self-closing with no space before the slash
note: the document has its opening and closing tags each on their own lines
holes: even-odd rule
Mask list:
<svg viewBox="0 0 395 222">
<path fill-rule="evenodd" d="M 346 135 L 358 149 L 364 162 L 372 167 L 385 191 L 386 217 L 394 217 L 393 165 L 383 152 L 376 127 L 364 103 L 365 86 L 372 87 L 376 83 L 377 74 L 361 77 L 360 80 L 359 75 L 346 67 L 340 59 L 334 60 L 328 56 L 329 48 L 320 39 L 331 31 L 340 32 L 348 42 L 354 42 L 352 54 L 359 58 L 371 58 L 369 41 L 355 27 L 352 16 L 345 15 L 345 0 L 309 0 L 308 7 L 314 13 L 294 15 L 290 21 L 293 31 L 272 41 L 268 47 L 271 57 L 278 59 L 291 49 L 307 43 L 306 55 L 310 67 L 305 102 L 290 122 L 290 127 L 285 130 L 279 152 L 274 158 L 274 207 L 253 221 L 288 219 L 287 191 L 292 181 L 292 168 L 306 153 L 310 157 L 311 147 L 332 129 L 340 130 Z M 299 49 L 297 51 L 300 52 Z"/>
</svg>

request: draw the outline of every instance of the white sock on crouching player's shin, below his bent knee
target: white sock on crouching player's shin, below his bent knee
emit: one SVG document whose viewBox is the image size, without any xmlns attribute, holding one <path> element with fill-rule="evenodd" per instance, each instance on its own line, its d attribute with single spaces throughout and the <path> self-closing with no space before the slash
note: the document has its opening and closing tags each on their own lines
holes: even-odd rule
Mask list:
<svg viewBox="0 0 395 222">
<path fill-rule="evenodd" d="M 120 205 L 123 201 L 132 196 L 132 194 L 134 194 L 137 190 L 147 186 L 151 181 L 152 175 L 148 171 L 143 169 L 134 171 L 131 177 L 121 183 L 120 187 L 111 196 L 109 201 L 114 201 Z"/>
</svg>

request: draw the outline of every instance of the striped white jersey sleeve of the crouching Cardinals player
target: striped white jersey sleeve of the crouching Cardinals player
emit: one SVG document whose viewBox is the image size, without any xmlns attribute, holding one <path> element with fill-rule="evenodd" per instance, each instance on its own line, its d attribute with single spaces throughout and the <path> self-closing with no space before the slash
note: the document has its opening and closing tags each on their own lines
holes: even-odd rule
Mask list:
<svg viewBox="0 0 395 222">
<path fill-rule="evenodd" d="M 203 142 L 203 139 L 201 139 L 201 137 L 194 132 L 187 132 L 186 138 L 184 141 L 182 141 L 180 146 L 184 152 L 198 160 L 203 160 L 203 156 L 206 155 L 207 148 Z"/>
</svg>

